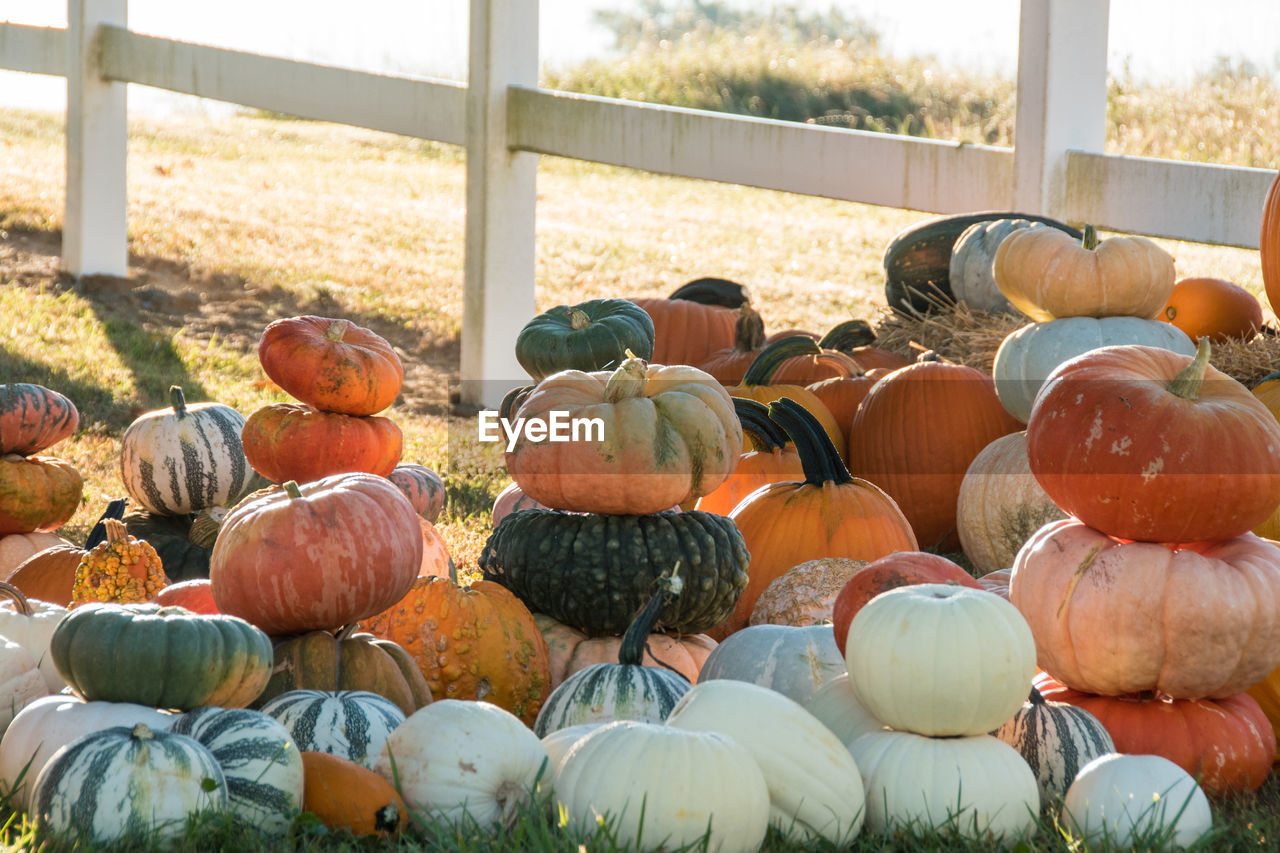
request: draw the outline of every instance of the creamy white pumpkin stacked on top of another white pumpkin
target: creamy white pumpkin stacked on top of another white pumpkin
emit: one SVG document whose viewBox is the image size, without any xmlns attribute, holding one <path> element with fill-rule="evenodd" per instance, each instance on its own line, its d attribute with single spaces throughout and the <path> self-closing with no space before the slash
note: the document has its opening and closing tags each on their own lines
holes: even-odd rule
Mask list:
<svg viewBox="0 0 1280 853">
<path fill-rule="evenodd" d="M 845 661 L 854 693 L 891 729 L 977 735 L 1023 707 L 1036 642 L 1018 608 L 998 596 L 915 584 L 881 593 L 858 611 Z"/>
</svg>

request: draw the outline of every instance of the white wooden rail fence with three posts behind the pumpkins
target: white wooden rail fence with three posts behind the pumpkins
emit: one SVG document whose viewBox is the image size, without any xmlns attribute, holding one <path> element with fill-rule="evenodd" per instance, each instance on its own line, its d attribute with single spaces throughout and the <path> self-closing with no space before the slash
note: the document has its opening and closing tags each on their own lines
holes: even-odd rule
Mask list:
<svg viewBox="0 0 1280 853">
<path fill-rule="evenodd" d="M 125 85 L 465 146 L 463 400 L 524 375 L 539 154 L 938 214 L 1020 210 L 1256 248 L 1276 173 L 1105 154 L 1108 0 L 1021 0 L 1016 147 L 794 124 L 538 87 L 538 0 L 471 0 L 468 83 L 157 38 L 128 0 L 0 24 L 0 68 L 67 77 L 63 266 L 123 275 Z M 92 227 L 88 227 L 92 223 Z M 493 237 L 490 240 L 489 237 Z M 488 382 L 485 382 L 488 380 Z"/>
</svg>

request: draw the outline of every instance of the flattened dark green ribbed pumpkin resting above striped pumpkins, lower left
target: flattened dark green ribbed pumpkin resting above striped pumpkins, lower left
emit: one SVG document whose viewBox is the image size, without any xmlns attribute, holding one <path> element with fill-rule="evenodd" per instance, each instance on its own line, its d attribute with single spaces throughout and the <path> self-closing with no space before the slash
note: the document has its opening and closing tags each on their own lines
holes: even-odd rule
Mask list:
<svg viewBox="0 0 1280 853">
<path fill-rule="evenodd" d="M 242 708 L 271 675 L 265 633 L 236 616 L 183 607 L 82 605 L 58 622 L 49 653 L 86 702 Z"/>
</svg>

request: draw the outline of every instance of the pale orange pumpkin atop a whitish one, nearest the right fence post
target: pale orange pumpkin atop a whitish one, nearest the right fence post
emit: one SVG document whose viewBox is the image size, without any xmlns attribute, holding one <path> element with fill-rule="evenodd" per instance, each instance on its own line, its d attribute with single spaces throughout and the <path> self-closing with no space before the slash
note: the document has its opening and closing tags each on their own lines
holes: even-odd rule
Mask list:
<svg viewBox="0 0 1280 853">
<path fill-rule="evenodd" d="M 1174 289 L 1174 259 L 1146 237 L 1098 240 L 1092 225 L 1074 240 L 1053 228 L 1006 237 L 992 263 L 996 286 L 1037 321 L 1065 316 L 1152 320 Z"/>
</svg>

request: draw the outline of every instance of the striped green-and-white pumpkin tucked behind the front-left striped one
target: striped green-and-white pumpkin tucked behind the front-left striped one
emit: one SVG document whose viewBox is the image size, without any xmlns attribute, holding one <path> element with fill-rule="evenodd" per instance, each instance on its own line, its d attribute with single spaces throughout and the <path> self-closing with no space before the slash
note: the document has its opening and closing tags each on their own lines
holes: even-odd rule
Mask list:
<svg viewBox="0 0 1280 853">
<path fill-rule="evenodd" d="M 261 711 L 206 706 L 180 715 L 173 734 L 195 738 L 227 777 L 227 804 L 248 826 L 284 835 L 302 811 L 302 753 Z"/>
</svg>

